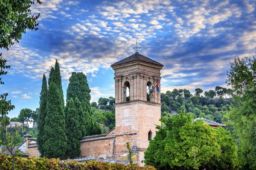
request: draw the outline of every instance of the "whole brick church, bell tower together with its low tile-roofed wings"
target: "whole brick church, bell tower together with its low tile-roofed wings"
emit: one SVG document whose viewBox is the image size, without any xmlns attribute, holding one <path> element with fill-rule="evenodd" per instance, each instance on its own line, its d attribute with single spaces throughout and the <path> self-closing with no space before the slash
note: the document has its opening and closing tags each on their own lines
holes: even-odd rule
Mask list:
<svg viewBox="0 0 256 170">
<path fill-rule="evenodd" d="M 82 137 L 79 160 L 122 160 L 128 154 L 126 142 L 129 142 L 137 153 L 134 163 L 143 166 L 144 152 L 156 134 L 156 125 L 160 125 L 163 65 L 136 52 L 111 67 L 115 81 L 116 127 L 107 134 Z M 30 141 L 26 138 L 29 144 L 24 146 L 29 148 L 25 151 L 37 157 L 37 145 Z"/>
</svg>

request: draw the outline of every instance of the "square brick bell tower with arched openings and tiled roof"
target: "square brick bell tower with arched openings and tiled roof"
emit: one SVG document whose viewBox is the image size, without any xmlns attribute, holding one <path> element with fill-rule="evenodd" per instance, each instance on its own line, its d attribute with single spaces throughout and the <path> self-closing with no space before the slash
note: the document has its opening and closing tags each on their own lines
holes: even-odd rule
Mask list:
<svg viewBox="0 0 256 170">
<path fill-rule="evenodd" d="M 115 71 L 116 128 L 114 159 L 127 155 L 126 142 L 138 153 L 137 163 L 143 165 L 144 152 L 149 140 L 160 125 L 160 92 L 149 91 L 150 85 L 159 82 L 163 65 L 138 52 L 111 65 Z"/>
</svg>

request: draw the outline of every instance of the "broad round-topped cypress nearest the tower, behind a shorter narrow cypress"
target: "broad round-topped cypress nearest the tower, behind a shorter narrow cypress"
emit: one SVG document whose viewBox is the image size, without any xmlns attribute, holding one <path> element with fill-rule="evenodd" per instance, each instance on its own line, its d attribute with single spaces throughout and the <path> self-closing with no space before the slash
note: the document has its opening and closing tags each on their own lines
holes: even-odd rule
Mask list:
<svg viewBox="0 0 256 170">
<path fill-rule="evenodd" d="M 90 105 L 90 88 L 87 82 L 87 78 L 83 73 L 72 73 L 70 77 L 70 83 L 67 88 L 67 101 L 70 98 L 73 98 L 73 100 L 76 98 L 79 99 L 83 108 L 83 115 L 80 119 L 81 125 L 84 126 L 82 136 L 96 135 L 100 133 L 101 128 L 97 123 L 94 123 L 92 118 Z"/>
</svg>

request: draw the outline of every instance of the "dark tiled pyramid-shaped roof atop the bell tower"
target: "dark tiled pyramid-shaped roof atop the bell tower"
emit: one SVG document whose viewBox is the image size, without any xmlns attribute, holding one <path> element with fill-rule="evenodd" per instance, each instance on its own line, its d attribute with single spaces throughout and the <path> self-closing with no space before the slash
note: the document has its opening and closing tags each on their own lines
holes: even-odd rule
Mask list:
<svg viewBox="0 0 256 170">
<path fill-rule="evenodd" d="M 163 66 L 163 64 L 161 64 L 160 62 L 156 62 L 153 59 L 145 57 L 142 54 L 136 52 L 135 54 L 132 54 L 131 56 L 126 57 L 125 59 L 122 59 L 122 60 L 112 64 L 111 67 L 114 66 L 114 65 L 125 64 L 125 63 L 133 62 L 133 61 L 143 61 L 143 62 L 148 62 L 148 63 L 151 63 L 151 64 Z"/>
</svg>

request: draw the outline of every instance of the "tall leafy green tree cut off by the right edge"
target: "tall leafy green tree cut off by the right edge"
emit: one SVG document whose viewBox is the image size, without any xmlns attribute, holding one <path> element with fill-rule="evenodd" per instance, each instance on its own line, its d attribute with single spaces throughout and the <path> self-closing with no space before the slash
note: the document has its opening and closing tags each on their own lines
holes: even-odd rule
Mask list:
<svg viewBox="0 0 256 170">
<path fill-rule="evenodd" d="M 226 82 L 232 87 L 233 100 L 237 102 L 230 112 L 234 133 L 244 166 L 256 169 L 256 57 L 236 57 L 230 67 Z"/>
</svg>

